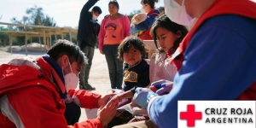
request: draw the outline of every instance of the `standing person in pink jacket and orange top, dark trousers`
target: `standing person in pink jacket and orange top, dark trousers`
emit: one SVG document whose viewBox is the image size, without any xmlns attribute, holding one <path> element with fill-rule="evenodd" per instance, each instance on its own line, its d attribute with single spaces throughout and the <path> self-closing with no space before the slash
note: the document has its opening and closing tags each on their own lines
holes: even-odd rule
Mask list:
<svg viewBox="0 0 256 128">
<path fill-rule="evenodd" d="M 119 14 L 119 3 L 116 1 L 108 3 L 108 11 L 110 15 L 106 15 L 101 24 L 99 49 L 108 63 L 111 88 L 122 89 L 123 61 L 117 58 L 117 50 L 121 41 L 130 36 L 130 20 L 126 15 Z"/>
</svg>

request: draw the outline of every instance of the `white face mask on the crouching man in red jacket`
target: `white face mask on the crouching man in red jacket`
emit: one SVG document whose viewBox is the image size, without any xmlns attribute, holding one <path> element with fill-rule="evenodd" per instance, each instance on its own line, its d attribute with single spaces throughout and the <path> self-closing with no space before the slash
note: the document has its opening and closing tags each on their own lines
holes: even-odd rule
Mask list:
<svg viewBox="0 0 256 128">
<path fill-rule="evenodd" d="M 67 91 L 76 89 L 79 84 L 79 77 L 77 77 L 77 75 L 73 73 L 69 60 L 68 60 L 68 63 L 71 69 L 71 73 L 67 73 L 66 75 L 64 75 L 65 86 Z M 63 67 L 62 67 L 62 72 L 63 72 Z"/>
</svg>

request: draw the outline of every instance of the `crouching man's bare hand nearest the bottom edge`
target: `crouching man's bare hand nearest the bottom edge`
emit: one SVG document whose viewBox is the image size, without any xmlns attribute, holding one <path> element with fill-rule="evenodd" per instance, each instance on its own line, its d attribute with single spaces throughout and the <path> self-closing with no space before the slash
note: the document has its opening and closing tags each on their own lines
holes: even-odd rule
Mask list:
<svg viewBox="0 0 256 128">
<path fill-rule="evenodd" d="M 108 104 L 97 112 L 97 119 L 100 119 L 102 122 L 102 125 L 107 125 L 115 116 L 117 113 L 117 104 L 113 104 L 111 102 L 108 102 Z"/>
</svg>

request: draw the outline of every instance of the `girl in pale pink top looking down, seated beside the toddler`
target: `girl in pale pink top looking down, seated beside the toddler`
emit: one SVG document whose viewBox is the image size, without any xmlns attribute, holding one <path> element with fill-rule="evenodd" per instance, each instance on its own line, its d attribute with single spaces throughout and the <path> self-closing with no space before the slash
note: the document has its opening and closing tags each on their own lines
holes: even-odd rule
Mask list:
<svg viewBox="0 0 256 128">
<path fill-rule="evenodd" d="M 175 73 L 177 73 L 177 70 L 172 64 L 168 64 L 168 61 L 171 59 L 172 54 L 187 33 L 188 30 L 185 26 L 172 22 L 166 15 L 162 15 L 155 20 L 150 29 L 150 35 L 154 38 L 155 44 L 156 41 L 159 42 L 160 48 L 158 49 L 159 52 L 154 53 L 150 59 L 149 79 L 151 84 L 149 87 L 151 90 L 156 91 L 160 96 L 169 93 L 169 91 L 172 90 L 172 80 Z M 156 48 L 158 47 L 159 46 L 156 45 Z M 166 86 L 158 90 L 161 84 L 166 84 Z M 146 108 L 137 107 L 134 102 L 127 106 L 129 106 L 127 108 L 130 109 L 124 109 L 125 106 L 121 109 L 119 108 L 118 112 L 122 112 L 119 113 L 122 114 L 122 116 L 117 115 L 115 117 L 119 117 L 119 120 L 124 119 L 125 121 L 122 122 L 123 124 L 129 121 L 133 122 L 141 119 L 148 119 L 148 111 Z M 131 112 L 131 114 L 126 112 Z M 113 120 L 111 123 L 113 123 Z M 126 125 L 122 126 L 125 127 Z"/>
</svg>

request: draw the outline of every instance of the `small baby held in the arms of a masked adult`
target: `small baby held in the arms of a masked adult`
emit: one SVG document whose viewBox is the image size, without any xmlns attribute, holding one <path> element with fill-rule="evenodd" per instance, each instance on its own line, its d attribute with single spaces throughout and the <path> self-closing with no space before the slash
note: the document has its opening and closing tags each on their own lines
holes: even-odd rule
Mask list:
<svg viewBox="0 0 256 128">
<path fill-rule="evenodd" d="M 143 14 L 143 13 L 140 13 L 140 14 L 137 14 L 137 15 L 133 15 L 133 17 L 131 18 L 131 26 L 130 26 L 130 33 L 131 33 L 131 35 L 137 36 L 137 34 L 140 34 L 140 32 L 143 32 L 141 30 L 137 30 L 135 28 L 135 25 L 143 22 L 146 19 L 147 19 L 147 15 Z"/>
</svg>

